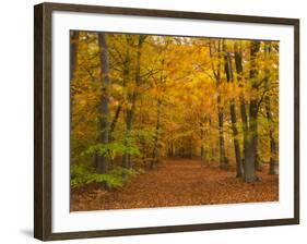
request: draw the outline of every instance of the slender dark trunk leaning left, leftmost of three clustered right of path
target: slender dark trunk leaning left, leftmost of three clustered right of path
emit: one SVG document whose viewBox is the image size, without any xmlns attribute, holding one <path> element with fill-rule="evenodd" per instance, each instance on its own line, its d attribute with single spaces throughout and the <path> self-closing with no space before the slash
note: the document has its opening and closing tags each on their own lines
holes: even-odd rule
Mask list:
<svg viewBox="0 0 307 244">
<path fill-rule="evenodd" d="M 224 44 L 224 63 L 225 63 L 225 73 L 228 83 L 234 82 L 234 73 L 233 73 L 233 65 L 232 65 L 232 58 L 227 50 L 226 44 Z M 238 141 L 238 129 L 237 129 L 237 115 L 236 115 L 236 105 L 235 99 L 231 99 L 229 105 L 231 110 L 231 119 L 232 119 L 232 130 L 234 136 L 234 148 L 235 148 L 235 156 L 236 156 L 236 169 L 237 169 L 237 178 L 243 176 L 243 164 L 241 164 L 241 156 L 240 156 L 240 145 Z"/>
</svg>

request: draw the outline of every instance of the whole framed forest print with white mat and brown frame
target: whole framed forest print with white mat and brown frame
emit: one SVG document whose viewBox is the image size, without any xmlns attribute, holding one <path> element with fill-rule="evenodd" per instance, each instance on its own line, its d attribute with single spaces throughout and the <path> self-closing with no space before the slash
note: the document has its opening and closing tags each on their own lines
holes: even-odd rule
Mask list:
<svg viewBox="0 0 307 244">
<path fill-rule="evenodd" d="M 35 237 L 299 222 L 299 21 L 35 5 Z"/>
</svg>

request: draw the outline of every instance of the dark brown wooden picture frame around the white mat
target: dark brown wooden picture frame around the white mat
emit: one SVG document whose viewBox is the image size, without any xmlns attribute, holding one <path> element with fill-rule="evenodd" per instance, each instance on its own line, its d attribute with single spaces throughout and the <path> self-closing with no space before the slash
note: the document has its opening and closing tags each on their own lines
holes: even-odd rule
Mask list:
<svg viewBox="0 0 307 244">
<path fill-rule="evenodd" d="M 141 15 L 192 20 L 214 20 L 224 22 L 247 22 L 294 26 L 294 218 L 188 225 L 167 225 L 138 229 L 97 230 L 84 232 L 52 233 L 51 231 L 51 14 L 54 11 L 87 13 L 109 13 L 121 15 Z M 185 231 L 203 231 L 263 225 L 283 225 L 299 223 L 299 20 L 280 17 L 260 17 L 198 12 L 175 12 L 147 9 L 126 9 L 97 5 L 76 5 L 61 3 L 42 3 L 35 5 L 34 24 L 34 121 L 35 121 L 35 194 L 34 194 L 34 236 L 43 241 L 63 239 L 84 239 L 99 236 L 135 235 Z"/>
</svg>

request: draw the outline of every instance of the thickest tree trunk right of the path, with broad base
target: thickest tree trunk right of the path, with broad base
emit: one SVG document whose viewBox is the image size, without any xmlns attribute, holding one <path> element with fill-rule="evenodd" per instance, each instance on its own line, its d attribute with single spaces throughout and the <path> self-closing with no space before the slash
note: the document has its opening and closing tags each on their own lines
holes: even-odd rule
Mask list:
<svg viewBox="0 0 307 244">
<path fill-rule="evenodd" d="M 257 65 L 256 58 L 260 49 L 260 41 L 251 41 L 250 46 L 250 72 L 251 88 L 256 91 L 249 102 L 249 130 L 247 133 L 247 145 L 245 149 L 245 181 L 255 182 L 258 143 L 258 96 L 257 96 Z"/>
</svg>

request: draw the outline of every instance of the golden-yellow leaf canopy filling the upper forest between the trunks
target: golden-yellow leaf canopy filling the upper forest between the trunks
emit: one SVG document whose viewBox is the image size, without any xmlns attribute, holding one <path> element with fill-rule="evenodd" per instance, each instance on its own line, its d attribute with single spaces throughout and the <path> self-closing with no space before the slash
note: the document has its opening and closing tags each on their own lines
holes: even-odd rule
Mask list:
<svg viewBox="0 0 307 244">
<path fill-rule="evenodd" d="M 250 65 L 249 40 L 147 36 L 139 50 L 139 63 L 137 57 L 140 35 L 107 36 L 110 69 L 108 75 L 111 84 L 108 86 L 110 122 L 120 107 L 113 135 L 115 139 L 122 136 L 127 129 L 127 111 L 133 110 L 132 129 L 151 131 L 156 130 L 160 111 L 162 142 L 166 142 L 168 136 L 177 136 L 178 139 L 185 138 L 186 142 L 200 146 L 204 139 L 199 138 L 199 133 L 203 130 L 206 133 L 203 135 L 205 146 L 217 147 L 219 106 L 224 112 L 225 142 L 232 144 L 229 105 L 234 102 L 237 106 L 237 123 L 240 127 L 240 97 L 248 102 L 265 89 L 263 84 L 260 88 L 250 86 L 252 69 L 258 71 L 255 78 L 257 83 L 260 84 L 268 76 L 271 89 L 268 96 L 271 98 L 272 114 L 278 119 L 279 44 L 272 41 L 274 49 L 267 57 L 262 45 L 255 60 L 256 64 Z M 243 56 L 240 74 L 237 74 L 235 65 L 235 44 Z M 226 46 L 224 50 L 223 45 Z M 101 73 L 98 50 L 97 34 L 81 32 L 75 77 L 71 84 L 72 137 L 78 146 L 94 142 L 98 134 L 98 105 L 104 75 Z M 225 50 L 229 52 L 233 70 L 228 82 Z M 157 105 L 162 108 L 158 109 Z M 262 110 L 261 112 L 264 113 Z M 260 124 L 259 130 L 263 130 L 263 126 Z"/>
</svg>

